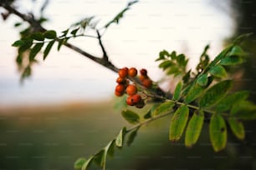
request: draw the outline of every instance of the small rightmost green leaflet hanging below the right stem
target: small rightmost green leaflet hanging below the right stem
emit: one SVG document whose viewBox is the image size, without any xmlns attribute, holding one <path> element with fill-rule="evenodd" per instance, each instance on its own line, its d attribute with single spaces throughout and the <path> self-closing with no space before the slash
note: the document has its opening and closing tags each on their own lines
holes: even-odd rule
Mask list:
<svg viewBox="0 0 256 170">
<path fill-rule="evenodd" d="M 243 140 L 245 137 L 243 122 L 239 121 L 237 118 L 229 117 L 228 118 L 229 126 L 233 134 L 240 140 Z"/>
</svg>

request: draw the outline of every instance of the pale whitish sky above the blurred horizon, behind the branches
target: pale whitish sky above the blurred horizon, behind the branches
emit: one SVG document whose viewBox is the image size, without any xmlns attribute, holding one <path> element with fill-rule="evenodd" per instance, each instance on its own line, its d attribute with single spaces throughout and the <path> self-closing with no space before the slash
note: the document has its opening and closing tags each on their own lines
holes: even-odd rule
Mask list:
<svg viewBox="0 0 256 170">
<path fill-rule="evenodd" d="M 44 0 L 38 0 L 38 6 L 33 6 L 32 0 L 20 0 L 18 10 L 38 13 L 42 2 Z M 81 18 L 90 16 L 95 16 L 102 26 L 114 18 L 127 2 L 52 0 L 44 11 L 44 16 L 49 18 L 44 27 L 61 32 Z M 141 0 L 102 37 L 111 62 L 117 67 L 146 68 L 150 77 L 157 81 L 164 76 L 157 67 L 159 63 L 155 62 L 162 49 L 184 53 L 191 58 L 189 67 L 195 66 L 207 44 L 211 47 L 210 56 L 214 57 L 235 27 L 228 7 L 221 9 L 225 7 L 222 2 Z M 17 21 L 19 18 L 15 16 L 6 22 L 0 19 L 0 107 L 99 101 L 114 96 L 117 74 L 65 47 L 59 52 L 54 47 L 44 62 L 42 55 L 38 55 L 41 62 L 33 67 L 33 76 L 21 85 L 15 65 L 16 49 L 11 47 L 18 39 L 18 30 L 13 28 Z M 101 55 L 95 39 L 83 37 L 69 42 L 86 52 Z M 168 87 L 166 84 L 161 86 Z"/>
</svg>

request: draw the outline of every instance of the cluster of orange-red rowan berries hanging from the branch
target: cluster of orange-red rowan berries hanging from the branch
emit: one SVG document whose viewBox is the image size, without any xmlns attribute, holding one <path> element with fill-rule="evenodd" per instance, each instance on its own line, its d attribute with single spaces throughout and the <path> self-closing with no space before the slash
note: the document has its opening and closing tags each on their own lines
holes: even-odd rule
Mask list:
<svg viewBox="0 0 256 170">
<path fill-rule="evenodd" d="M 150 88 L 152 86 L 152 81 L 147 76 L 146 69 L 141 69 L 140 73 L 141 75 L 139 76 L 139 80 L 141 85 Z M 126 93 L 128 95 L 126 98 L 126 103 L 129 106 L 136 106 L 137 108 L 144 107 L 145 102 L 138 93 L 138 88 L 135 84 L 130 84 L 130 81 L 128 80 L 128 77 L 136 78 L 137 69 L 135 67 L 123 67 L 119 70 L 118 74 L 119 77 L 116 79 L 118 84 L 115 87 L 115 95 L 120 97 Z"/>
</svg>

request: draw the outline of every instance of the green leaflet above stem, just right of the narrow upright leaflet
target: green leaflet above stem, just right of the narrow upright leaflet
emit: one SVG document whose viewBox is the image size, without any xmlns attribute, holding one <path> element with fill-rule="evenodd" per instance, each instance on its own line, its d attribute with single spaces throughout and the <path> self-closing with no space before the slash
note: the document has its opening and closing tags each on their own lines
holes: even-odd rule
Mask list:
<svg viewBox="0 0 256 170">
<path fill-rule="evenodd" d="M 204 89 L 205 87 L 200 86 L 198 83 L 194 83 L 187 92 L 187 96 L 185 97 L 184 101 L 187 104 L 193 102 L 195 99 L 197 99 L 197 97 L 202 95 Z"/>
</svg>

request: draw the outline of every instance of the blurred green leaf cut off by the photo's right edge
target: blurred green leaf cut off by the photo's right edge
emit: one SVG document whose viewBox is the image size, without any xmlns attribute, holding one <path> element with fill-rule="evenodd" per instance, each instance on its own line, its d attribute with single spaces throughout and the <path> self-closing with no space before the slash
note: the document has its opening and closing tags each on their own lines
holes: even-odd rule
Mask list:
<svg viewBox="0 0 256 170">
<path fill-rule="evenodd" d="M 243 120 L 256 119 L 256 106 L 253 102 L 241 101 L 233 105 L 230 114 Z"/>
</svg>

